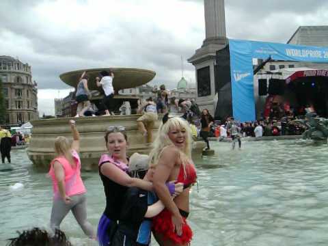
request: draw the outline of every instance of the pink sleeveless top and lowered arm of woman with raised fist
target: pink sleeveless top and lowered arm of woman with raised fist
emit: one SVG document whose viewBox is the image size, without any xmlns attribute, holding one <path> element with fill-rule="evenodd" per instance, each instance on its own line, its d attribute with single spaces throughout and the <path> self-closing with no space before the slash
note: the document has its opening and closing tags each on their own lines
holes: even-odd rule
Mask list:
<svg viewBox="0 0 328 246">
<path fill-rule="evenodd" d="M 64 168 L 66 195 L 79 195 L 86 192 L 81 179 L 81 160 L 79 154 L 75 150 L 72 150 L 72 156 L 76 163 L 75 167 L 72 167 L 64 156 L 58 156 L 51 161 L 49 176 L 51 176 L 51 179 L 53 180 L 53 196 L 55 198 L 60 197 L 58 182 L 55 178 L 55 170 L 53 169 L 53 163 L 55 161 L 58 161 Z"/>
</svg>

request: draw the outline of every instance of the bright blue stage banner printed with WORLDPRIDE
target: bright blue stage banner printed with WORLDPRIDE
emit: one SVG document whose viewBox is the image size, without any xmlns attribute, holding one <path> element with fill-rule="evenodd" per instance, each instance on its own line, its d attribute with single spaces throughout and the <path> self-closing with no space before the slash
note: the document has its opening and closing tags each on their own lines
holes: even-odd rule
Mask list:
<svg viewBox="0 0 328 246">
<path fill-rule="evenodd" d="M 256 120 L 253 58 L 328 63 L 328 49 L 324 47 L 229 40 L 229 49 L 232 111 L 241 122 Z"/>
</svg>

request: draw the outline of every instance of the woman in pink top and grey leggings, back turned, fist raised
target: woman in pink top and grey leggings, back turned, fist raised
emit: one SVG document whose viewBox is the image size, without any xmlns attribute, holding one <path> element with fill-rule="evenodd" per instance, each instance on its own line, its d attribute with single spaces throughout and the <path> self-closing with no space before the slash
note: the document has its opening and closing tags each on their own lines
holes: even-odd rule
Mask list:
<svg viewBox="0 0 328 246">
<path fill-rule="evenodd" d="M 74 120 L 70 120 L 73 141 L 66 137 L 55 139 L 57 157 L 51 161 L 49 176 L 53 180 L 53 208 L 50 226 L 53 231 L 60 229 L 60 223 L 68 212 L 77 219 L 85 235 L 96 238 L 91 224 L 87 221 L 86 189 L 81 179 L 79 131 Z"/>
</svg>

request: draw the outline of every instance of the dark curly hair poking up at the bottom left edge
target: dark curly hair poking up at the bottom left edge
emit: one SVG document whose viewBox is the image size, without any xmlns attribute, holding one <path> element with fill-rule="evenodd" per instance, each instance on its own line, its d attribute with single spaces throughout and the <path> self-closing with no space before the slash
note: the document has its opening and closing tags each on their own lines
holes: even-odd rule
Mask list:
<svg viewBox="0 0 328 246">
<path fill-rule="evenodd" d="M 55 230 L 55 234 L 51 236 L 46 230 L 33 228 L 24 230 L 16 238 L 8 239 L 8 246 L 72 246 L 66 235 L 61 230 Z"/>
</svg>

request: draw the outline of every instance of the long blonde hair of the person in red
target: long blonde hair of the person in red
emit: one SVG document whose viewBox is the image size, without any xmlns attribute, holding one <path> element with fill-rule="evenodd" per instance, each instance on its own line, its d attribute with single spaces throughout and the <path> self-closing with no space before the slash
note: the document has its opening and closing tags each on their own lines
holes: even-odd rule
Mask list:
<svg viewBox="0 0 328 246">
<path fill-rule="evenodd" d="M 159 162 L 159 159 L 161 158 L 161 153 L 163 152 L 163 148 L 167 146 L 174 146 L 174 143 L 169 139 L 169 131 L 172 131 L 172 129 L 184 129 L 186 131 L 186 137 L 185 137 L 185 146 L 183 150 L 179 150 L 180 152 L 180 159 L 182 161 L 182 165 L 185 167 L 186 164 L 189 162 L 189 159 L 191 159 L 191 129 L 189 127 L 189 124 L 186 120 L 183 120 L 180 117 L 174 117 L 169 118 L 167 122 L 164 124 L 162 123 L 161 126 L 159 126 L 159 131 L 157 132 L 156 139 L 154 140 L 154 143 L 152 143 L 152 150 L 150 151 L 150 167 L 155 167 L 157 163 Z M 185 174 L 185 172 L 184 172 Z"/>
</svg>

